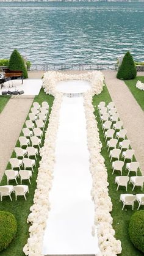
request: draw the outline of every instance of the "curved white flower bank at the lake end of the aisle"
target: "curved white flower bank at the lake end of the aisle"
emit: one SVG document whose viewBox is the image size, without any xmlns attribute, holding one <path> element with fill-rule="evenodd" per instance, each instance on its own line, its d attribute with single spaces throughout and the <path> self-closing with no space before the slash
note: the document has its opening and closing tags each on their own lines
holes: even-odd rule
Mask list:
<svg viewBox="0 0 144 256">
<path fill-rule="evenodd" d="M 58 71 L 48 71 L 43 77 L 43 88 L 46 93 L 56 95 L 56 84 L 63 80 L 85 80 L 90 82 L 90 91 L 98 95 L 103 90 L 104 76 L 101 71 L 88 71 L 85 73 L 67 74 Z"/>
</svg>

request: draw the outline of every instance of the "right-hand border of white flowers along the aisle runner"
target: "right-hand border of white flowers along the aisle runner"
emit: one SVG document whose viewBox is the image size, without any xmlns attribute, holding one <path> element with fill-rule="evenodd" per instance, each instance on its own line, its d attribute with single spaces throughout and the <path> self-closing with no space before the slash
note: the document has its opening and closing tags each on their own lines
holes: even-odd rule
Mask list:
<svg viewBox="0 0 144 256">
<path fill-rule="evenodd" d="M 92 235 L 95 230 L 98 233 L 99 256 L 116 256 L 121 253 L 121 241 L 116 240 L 115 230 L 112 228 L 112 202 L 109 197 L 107 182 L 107 169 L 104 158 L 101 155 L 102 144 L 99 139 L 99 131 L 92 105 L 92 97 L 95 92 L 87 92 L 84 95 L 85 117 L 87 122 L 87 144 L 90 152 L 90 172 L 92 174 L 92 200 L 95 203 L 95 220 Z"/>
</svg>

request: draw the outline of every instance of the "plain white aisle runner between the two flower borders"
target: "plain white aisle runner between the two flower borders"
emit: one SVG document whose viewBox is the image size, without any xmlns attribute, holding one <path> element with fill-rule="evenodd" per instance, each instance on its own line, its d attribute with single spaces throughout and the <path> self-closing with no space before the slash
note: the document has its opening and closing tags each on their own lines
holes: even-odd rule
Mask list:
<svg viewBox="0 0 144 256">
<path fill-rule="evenodd" d="M 97 254 L 83 98 L 63 97 L 43 254 Z"/>
</svg>

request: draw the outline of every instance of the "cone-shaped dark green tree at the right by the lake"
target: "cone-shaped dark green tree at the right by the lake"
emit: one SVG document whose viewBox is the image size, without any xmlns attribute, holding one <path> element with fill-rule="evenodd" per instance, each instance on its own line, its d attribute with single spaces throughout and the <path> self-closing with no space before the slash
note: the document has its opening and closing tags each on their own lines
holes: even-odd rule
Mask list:
<svg viewBox="0 0 144 256">
<path fill-rule="evenodd" d="M 134 79 L 137 75 L 134 60 L 129 51 L 124 55 L 123 61 L 118 68 L 117 78 L 121 80 Z"/>
</svg>

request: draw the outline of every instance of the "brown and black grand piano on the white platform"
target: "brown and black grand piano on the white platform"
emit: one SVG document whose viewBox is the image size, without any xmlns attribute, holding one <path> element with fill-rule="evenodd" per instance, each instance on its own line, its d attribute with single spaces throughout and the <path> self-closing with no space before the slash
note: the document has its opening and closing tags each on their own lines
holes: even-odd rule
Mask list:
<svg viewBox="0 0 144 256">
<path fill-rule="evenodd" d="M 21 78 L 22 84 L 23 84 L 23 71 L 22 70 L 9 70 L 9 68 L 3 68 L 4 71 L 4 76 L 1 78 L 0 77 L 0 84 L 1 84 L 1 89 L 2 86 L 4 85 L 4 82 Z"/>
</svg>

